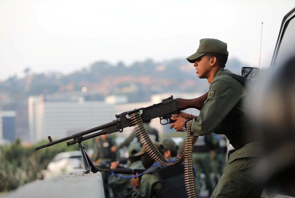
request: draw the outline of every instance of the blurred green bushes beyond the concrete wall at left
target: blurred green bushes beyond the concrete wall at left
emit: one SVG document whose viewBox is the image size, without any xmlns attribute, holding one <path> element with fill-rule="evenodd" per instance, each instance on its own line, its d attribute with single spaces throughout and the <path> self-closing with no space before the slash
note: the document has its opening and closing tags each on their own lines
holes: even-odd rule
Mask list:
<svg viewBox="0 0 295 198">
<path fill-rule="evenodd" d="M 88 148 L 91 140 L 84 141 L 83 145 Z M 35 146 L 40 146 L 48 141 L 42 141 Z M 78 145 L 67 147 L 66 143 L 59 143 L 48 148 L 35 151 L 34 147 L 23 147 L 19 139 L 9 146 L 0 147 L 0 192 L 16 189 L 20 185 L 42 179 L 42 169 L 54 156 L 64 151 L 76 151 Z"/>
</svg>

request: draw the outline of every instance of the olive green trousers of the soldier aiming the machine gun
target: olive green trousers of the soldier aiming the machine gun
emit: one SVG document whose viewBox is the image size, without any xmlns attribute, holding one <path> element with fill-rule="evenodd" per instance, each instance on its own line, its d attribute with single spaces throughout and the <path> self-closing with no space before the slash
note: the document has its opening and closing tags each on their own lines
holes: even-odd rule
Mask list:
<svg viewBox="0 0 295 198">
<path fill-rule="evenodd" d="M 211 198 L 260 197 L 263 187 L 256 182 L 259 177 L 255 169 L 257 160 L 246 157 L 227 164 Z"/>
</svg>

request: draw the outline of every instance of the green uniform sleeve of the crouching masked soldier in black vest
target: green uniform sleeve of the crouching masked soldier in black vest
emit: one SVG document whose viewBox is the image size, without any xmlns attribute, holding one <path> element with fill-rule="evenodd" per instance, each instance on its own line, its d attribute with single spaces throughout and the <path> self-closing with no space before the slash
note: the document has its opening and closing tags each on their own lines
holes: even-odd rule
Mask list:
<svg viewBox="0 0 295 198">
<path fill-rule="evenodd" d="M 160 187 L 160 180 L 157 176 L 144 174 L 140 180 L 140 188 L 135 189 L 132 198 L 153 198 Z"/>
</svg>

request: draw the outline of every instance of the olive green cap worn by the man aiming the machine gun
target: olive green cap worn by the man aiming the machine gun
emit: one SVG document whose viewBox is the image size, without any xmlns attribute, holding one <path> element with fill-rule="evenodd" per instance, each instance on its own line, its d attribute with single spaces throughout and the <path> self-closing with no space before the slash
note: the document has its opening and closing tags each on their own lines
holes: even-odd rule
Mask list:
<svg viewBox="0 0 295 198">
<path fill-rule="evenodd" d="M 227 44 L 218 39 L 201 39 L 197 52 L 186 59 L 190 63 L 196 62 L 196 59 L 205 54 L 225 54 L 228 55 Z"/>
</svg>

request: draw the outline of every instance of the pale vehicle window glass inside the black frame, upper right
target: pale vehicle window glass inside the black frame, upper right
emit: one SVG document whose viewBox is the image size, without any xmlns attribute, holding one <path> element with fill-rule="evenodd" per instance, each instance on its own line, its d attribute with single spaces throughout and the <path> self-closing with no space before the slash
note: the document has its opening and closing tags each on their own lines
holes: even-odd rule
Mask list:
<svg viewBox="0 0 295 198">
<path fill-rule="evenodd" d="M 276 58 L 276 65 L 282 65 L 295 55 L 295 18 L 293 18 L 283 35 L 278 56 Z"/>
</svg>

